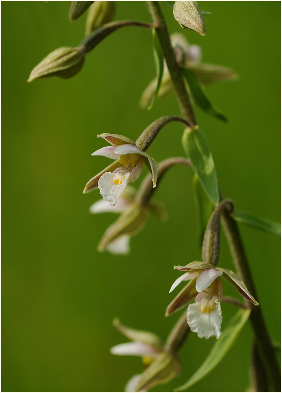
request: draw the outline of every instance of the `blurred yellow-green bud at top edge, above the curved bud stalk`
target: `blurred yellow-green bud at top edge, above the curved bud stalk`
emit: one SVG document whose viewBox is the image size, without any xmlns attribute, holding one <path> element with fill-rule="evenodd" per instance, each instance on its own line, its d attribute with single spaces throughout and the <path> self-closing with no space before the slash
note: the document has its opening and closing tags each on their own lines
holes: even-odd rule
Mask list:
<svg viewBox="0 0 282 393">
<path fill-rule="evenodd" d="M 95 1 L 88 9 L 85 35 L 87 36 L 103 24 L 111 22 L 113 16 L 113 1 Z"/>
</svg>

